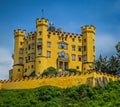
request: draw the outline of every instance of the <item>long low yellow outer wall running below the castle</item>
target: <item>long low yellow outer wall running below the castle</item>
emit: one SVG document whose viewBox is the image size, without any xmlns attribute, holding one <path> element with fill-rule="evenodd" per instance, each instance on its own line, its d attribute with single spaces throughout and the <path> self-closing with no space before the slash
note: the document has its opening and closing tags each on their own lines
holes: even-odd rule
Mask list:
<svg viewBox="0 0 120 107">
<path fill-rule="evenodd" d="M 14 81 L 3 81 L 2 82 L 2 90 L 8 89 L 29 89 L 29 88 L 37 88 L 40 86 L 56 86 L 60 88 L 67 88 L 72 86 L 78 86 L 81 84 L 88 84 L 90 86 L 99 85 L 97 82 L 97 78 L 107 78 L 108 82 L 111 80 L 115 81 L 120 78 L 109 74 L 103 73 L 86 73 L 86 74 L 71 74 L 71 75 L 61 75 L 61 76 L 48 76 L 48 77 L 34 77 L 34 78 L 25 78 Z M 103 81 L 103 80 L 102 80 Z M 103 83 L 105 84 L 105 83 Z M 0 84 L 1 86 L 1 84 Z"/>
</svg>

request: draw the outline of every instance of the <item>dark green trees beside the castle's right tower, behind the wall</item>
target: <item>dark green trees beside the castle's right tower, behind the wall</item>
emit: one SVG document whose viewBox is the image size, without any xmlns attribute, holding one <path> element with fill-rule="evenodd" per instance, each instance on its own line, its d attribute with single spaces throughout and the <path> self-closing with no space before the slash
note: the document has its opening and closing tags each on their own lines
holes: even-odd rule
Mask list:
<svg viewBox="0 0 120 107">
<path fill-rule="evenodd" d="M 115 48 L 117 51 L 116 55 L 111 56 L 109 59 L 100 55 L 95 61 L 95 67 L 92 69 L 120 76 L 120 42 L 118 42 Z"/>
</svg>

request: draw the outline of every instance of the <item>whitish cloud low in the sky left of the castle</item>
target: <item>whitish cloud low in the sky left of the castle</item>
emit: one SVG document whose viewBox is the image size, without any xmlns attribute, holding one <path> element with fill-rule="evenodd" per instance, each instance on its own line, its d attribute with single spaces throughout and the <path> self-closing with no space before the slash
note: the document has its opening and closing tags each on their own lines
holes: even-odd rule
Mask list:
<svg viewBox="0 0 120 107">
<path fill-rule="evenodd" d="M 12 68 L 12 61 L 9 49 L 0 47 L 0 80 L 9 78 L 9 70 Z"/>
</svg>

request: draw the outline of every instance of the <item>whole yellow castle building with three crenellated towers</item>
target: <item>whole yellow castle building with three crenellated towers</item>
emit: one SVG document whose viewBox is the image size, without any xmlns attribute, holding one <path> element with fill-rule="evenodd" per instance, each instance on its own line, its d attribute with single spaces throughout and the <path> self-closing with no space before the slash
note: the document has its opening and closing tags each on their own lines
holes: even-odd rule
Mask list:
<svg viewBox="0 0 120 107">
<path fill-rule="evenodd" d="M 40 75 L 52 66 L 57 71 L 88 72 L 95 61 L 95 27 L 81 27 L 81 34 L 56 29 L 47 19 L 36 19 L 36 32 L 14 30 L 14 65 L 10 79 Z"/>
</svg>

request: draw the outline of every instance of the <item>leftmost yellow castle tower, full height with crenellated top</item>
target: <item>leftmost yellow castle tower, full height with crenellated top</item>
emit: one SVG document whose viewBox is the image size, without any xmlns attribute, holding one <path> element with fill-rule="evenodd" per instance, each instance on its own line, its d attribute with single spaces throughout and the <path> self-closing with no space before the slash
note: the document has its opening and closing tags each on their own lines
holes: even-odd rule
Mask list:
<svg viewBox="0 0 120 107">
<path fill-rule="evenodd" d="M 23 51 L 24 51 L 24 37 L 26 35 L 25 30 L 14 30 L 14 65 L 13 75 L 11 78 L 21 78 L 23 74 Z"/>
</svg>

